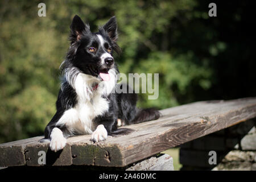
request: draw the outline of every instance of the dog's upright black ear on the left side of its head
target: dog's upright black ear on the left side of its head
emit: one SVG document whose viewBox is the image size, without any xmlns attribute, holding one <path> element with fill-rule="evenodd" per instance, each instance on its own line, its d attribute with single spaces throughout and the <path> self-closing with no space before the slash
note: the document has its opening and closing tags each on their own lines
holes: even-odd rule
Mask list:
<svg viewBox="0 0 256 182">
<path fill-rule="evenodd" d="M 82 33 L 86 31 L 90 31 L 90 27 L 88 24 L 84 24 L 81 18 L 78 15 L 75 15 L 72 23 L 71 23 L 71 43 L 80 40 Z"/>
</svg>

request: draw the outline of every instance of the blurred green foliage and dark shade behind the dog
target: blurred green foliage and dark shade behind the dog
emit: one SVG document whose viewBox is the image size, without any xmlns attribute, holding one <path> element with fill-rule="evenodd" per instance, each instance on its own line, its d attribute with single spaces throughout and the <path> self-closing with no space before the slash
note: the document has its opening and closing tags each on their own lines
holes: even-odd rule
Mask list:
<svg viewBox="0 0 256 182">
<path fill-rule="evenodd" d="M 0 143 L 43 134 L 75 14 L 92 31 L 115 15 L 120 71 L 159 73 L 158 100 L 141 94 L 139 106 L 255 96 L 246 84 L 256 79 L 247 39 L 254 34 L 242 34 L 253 7 L 245 2 L 217 3 L 217 18 L 208 16 L 208 1 L 44 1 L 46 17 L 38 16 L 40 2 L 0 1 Z"/>
</svg>

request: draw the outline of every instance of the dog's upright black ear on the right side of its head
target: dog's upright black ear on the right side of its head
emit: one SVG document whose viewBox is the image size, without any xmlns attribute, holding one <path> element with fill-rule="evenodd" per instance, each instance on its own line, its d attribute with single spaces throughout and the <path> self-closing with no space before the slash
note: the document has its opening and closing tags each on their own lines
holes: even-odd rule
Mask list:
<svg viewBox="0 0 256 182">
<path fill-rule="evenodd" d="M 115 19 L 115 16 L 109 19 L 109 21 L 103 26 L 104 30 L 108 33 L 109 38 L 116 42 L 118 39 L 117 34 L 117 20 Z"/>
</svg>

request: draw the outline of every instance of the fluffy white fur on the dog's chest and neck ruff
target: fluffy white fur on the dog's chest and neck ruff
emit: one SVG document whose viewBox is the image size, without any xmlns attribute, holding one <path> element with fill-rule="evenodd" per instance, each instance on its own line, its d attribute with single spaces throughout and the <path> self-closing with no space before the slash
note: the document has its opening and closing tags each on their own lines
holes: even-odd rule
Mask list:
<svg viewBox="0 0 256 182">
<path fill-rule="evenodd" d="M 109 70 L 109 75 L 109 81 L 100 81 L 96 77 L 78 73 L 73 83 L 77 93 L 77 105 L 66 110 L 56 126 L 65 125 L 75 134 L 92 134 L 95 129 L 93 119 L 109 109 L 108 100 L 102 96 L 108 96 L 115 88 L 117 72 L 114 68 Z M 71 79 L 66 78 L 66 80 Z M 96 84 L 98 88 L 93 90 Z"/>
</svg>

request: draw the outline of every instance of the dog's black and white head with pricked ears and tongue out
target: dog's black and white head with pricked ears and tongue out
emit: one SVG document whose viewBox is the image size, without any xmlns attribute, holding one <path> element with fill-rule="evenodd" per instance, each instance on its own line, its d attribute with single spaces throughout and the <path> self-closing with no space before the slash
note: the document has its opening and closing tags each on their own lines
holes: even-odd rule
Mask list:
<svg viewBox="0 0 256 182">
<path fill-rule="evenodd" d="M 113 52 L 119 52 L 117 45 L 117 22 L 115 16 L 93 33 L 77 15 L 71 24 L 71 46 L 68 58 L 81 72 L 102 80 L 109 80 L 109 69 L 114 67 Z"/>
</svg>

